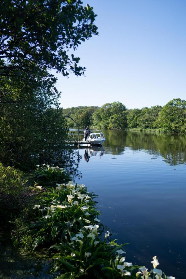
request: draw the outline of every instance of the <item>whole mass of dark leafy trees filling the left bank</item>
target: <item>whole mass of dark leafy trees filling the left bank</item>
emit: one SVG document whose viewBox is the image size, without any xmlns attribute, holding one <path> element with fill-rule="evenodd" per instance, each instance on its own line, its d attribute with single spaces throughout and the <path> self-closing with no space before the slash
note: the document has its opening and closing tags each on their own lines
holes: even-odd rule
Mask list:
<svg viewBox="0 0 186 279">
<path fill-rule="evenodd" d="M 95 16 L 80 0 L 0 1 L 2 162 L 24 167 L 64 146 L 68 127 L 51 70 L 84 74 L 74 51 L 98 34 Z"/>
</svg>

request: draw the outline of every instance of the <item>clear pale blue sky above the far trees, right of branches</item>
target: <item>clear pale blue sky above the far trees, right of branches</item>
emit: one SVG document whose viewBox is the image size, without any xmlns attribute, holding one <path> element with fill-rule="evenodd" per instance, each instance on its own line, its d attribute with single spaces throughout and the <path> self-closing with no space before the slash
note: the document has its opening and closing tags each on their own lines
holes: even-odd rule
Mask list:
<svg viewBox="0 0 186 279">
<path fill-rule="evenodd" d="M 119 101 L 142 108 L 186 99 L 185 0 L 87 3 L 98 15 L 99 36 L 76 51 L 86 77 L 57 75 L 61 107 Z"/>
</svg>

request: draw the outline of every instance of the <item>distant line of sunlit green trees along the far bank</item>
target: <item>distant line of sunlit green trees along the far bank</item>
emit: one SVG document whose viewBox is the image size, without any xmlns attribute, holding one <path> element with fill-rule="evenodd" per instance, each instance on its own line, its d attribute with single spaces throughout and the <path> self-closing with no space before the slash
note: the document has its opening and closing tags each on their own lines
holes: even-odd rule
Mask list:
<svg viewBox="0 0 186 279">
<path fill-rule="evenodd" d="M 152 106 L 151 108 L 126 109 L 120 102 L 104 104 L 101 108 L 72 107 L 63 110 L 64 115 L 71 116 L 79 126 L 87 125 L 99 129 L 152 129 L 163 132 L 186 132 L 186 101 L 173 99 L 165 106 Z M 68 119 L 69 127 L 76 124 Z"/>
</svg>

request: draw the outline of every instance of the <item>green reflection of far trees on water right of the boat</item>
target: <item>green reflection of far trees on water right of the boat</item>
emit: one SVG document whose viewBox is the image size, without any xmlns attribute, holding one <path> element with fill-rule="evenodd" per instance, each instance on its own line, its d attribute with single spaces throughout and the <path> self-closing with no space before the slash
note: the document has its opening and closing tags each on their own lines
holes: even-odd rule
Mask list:
<svg viewBox="0 0 186 279">
<path fill-rule="evenodd" d="M 149 155 L 161 155 L 164 162 L 170 165 L 186 162 L 186 135 L 109 130 L 104 131 L 104 134 L 105 153 L 118 155 L 130 147 L 134 151 L 143 150 Z"/>
</svg>

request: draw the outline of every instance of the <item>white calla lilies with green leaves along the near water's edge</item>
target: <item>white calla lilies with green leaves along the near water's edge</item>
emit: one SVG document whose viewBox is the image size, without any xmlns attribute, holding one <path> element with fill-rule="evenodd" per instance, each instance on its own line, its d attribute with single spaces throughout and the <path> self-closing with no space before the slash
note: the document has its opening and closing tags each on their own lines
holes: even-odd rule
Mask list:
<svg viewBox="0 0 186 279">
<path fill-rule="evenodd" d="M 98 219 L 100 212 L 94 201 L 97 195 L 89 193 L 85 185 L 72 181 L 67 183 L 69 175 L 64 170 L 48 165 L 46 168 L 38 166 L 34 173 L 37 178 L 35 187 L 40 194 L 37 196 L 38 204 L 34 206 L 38 216 L 30 229 L 33 249 L 42 245 L 52 251 L 51 272 L 59 272 L 58 279 L 175 279 L 157 269 L 159 262 L 156 256 L 151 262 L 153 269 L 148 271 L 127 262 L 123 248 L 126 244 L 108 241 L 108 231 L 103 239 L 104 227 Z"/>
</svg>

